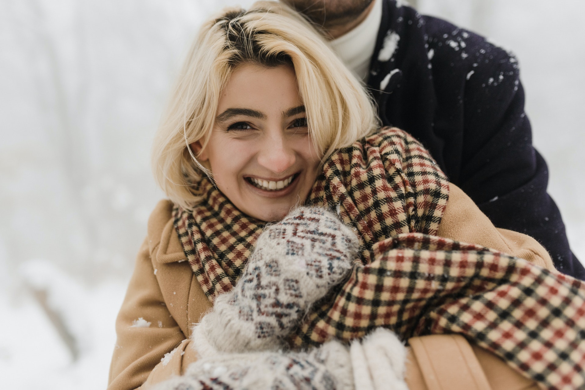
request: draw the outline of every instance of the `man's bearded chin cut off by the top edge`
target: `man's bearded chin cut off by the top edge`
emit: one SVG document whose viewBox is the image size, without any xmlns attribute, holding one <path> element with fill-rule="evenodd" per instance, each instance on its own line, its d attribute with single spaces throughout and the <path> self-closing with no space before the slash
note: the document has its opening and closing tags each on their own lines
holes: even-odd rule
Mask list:
<svg viewBox="0 0 585 390">
<path fill-rule="evenodd" d="M 283 0 L 321 27 L 344 25 L 362 15 L 374 0 Z"/>
</svg>

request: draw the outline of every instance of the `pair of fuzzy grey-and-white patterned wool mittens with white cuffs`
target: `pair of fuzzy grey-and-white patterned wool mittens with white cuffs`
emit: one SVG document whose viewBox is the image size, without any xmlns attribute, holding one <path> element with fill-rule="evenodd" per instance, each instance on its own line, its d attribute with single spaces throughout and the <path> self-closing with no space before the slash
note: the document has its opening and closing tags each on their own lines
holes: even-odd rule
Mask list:
<svg viewBox="0 0 585 390">
<path fill-rule="evenodd" d="M 363 347 L 354 340 L 352 356 L 336 341 L 281 350 L 307 309 L 349 274 L 357 250 L 354 232 L 324 208 L 300 207 L 266 227 L 236 286 L 195 326 L 198 361 L 160 389 L 362 389 L 352 366 L 364 361 L 365 374 L 377 379 L 372 390 L 405 389 L 405 349 L 387 329 Z M 367 360 L 353 359 L 356 348 Z"/>
</svg>

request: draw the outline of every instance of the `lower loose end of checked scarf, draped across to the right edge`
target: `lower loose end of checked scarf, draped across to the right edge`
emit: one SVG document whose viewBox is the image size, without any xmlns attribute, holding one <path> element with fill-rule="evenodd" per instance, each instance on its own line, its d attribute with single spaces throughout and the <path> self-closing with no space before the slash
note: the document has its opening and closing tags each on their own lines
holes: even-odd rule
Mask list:
<svg viewBox="0 0 585 390">
<path fill-rule="evenodd" d="M 419 233 L 374 245 L 293 346 L 383 326 L 406 340 L 460 333 L 542 388 L 585 388 L 585 283 L 483 246 Z"/>
</svg>

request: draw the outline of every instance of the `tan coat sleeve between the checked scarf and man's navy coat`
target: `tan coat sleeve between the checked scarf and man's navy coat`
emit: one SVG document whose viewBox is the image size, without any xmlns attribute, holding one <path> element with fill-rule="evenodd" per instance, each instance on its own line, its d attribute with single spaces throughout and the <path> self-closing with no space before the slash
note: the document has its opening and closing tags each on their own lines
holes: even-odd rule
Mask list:
<svg viewBox="0 0 585 390">
<path fill-rule="evenodd" d="M 546 249 L 534 238 L 494 227 L 473 200 L 453 183 L 449 184 L 449 201 L 438 235 L 499 250 L 548 270 L 555 269 Z"/>
</svg>

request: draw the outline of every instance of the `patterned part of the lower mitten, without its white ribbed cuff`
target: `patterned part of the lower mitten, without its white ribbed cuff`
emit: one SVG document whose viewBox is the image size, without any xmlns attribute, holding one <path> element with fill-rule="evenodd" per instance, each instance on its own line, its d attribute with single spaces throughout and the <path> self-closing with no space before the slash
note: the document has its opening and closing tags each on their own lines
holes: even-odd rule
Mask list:
<svg viewBox="0 0 585 390">
<path fill-rule="evenodd" d="M 352 364 L 339 342 L 308 352 L 221 354 L 191 364 L 156 390 L 353 390 Z"/>
</svg>

